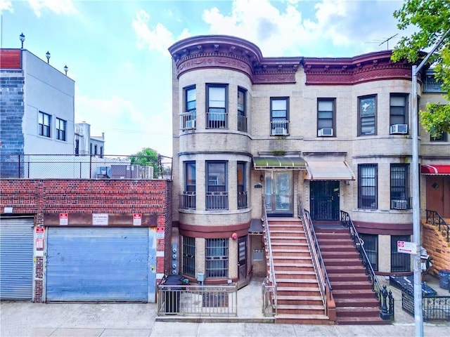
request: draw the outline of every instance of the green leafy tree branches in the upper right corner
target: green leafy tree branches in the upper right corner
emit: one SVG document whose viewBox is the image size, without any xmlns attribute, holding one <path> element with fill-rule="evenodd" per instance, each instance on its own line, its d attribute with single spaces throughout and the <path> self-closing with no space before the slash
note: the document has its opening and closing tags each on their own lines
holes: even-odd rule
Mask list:
<svg viewBox="0 0 450 337">
<path fill-rule="evenodd" d="M 417 62 L 424 53 L 437 44 L 450 29 L 450 0 L 406 0 L 401 9 L 394 11 L 401 30 L 413 27 L 414 32 L 403 37 L 394 48 L 392 60 Z M 420 123 L 432 137 L 439 138 L 450 132 L 450 34 L 428 60 L 434 67 L 435 79 L 442 81 L 446 105 L 430 103 L 427 109 L 419 112 Z"/>
</svg>

